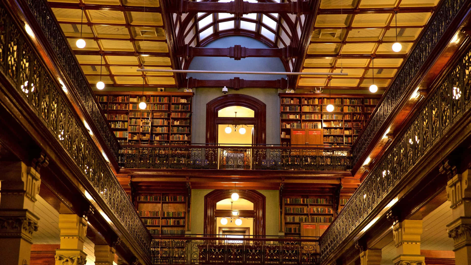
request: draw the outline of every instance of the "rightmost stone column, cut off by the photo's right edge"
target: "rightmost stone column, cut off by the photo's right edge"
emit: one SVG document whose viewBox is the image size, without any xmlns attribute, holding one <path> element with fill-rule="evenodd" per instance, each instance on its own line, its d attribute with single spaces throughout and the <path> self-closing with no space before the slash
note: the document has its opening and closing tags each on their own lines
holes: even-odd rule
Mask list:
<svg viewBox="0 0 471 265">
<path fill-rule="evenodd" d="M 447 199 L 451 202 L 453 221 L 447 224 L 453 238 L 456 265 L 471 264 L 471 187 L 470 170 L 456 174 L 447 182 Z"/>
</svg>

